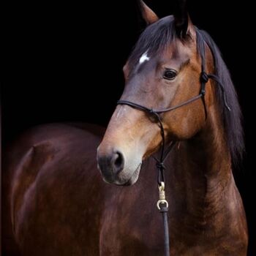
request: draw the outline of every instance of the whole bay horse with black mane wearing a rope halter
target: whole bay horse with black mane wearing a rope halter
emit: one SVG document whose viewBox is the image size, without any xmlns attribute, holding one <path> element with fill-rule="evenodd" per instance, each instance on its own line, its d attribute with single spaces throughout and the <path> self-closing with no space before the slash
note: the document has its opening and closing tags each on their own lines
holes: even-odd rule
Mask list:
<svg viewBox="0 0 256 256">
<path fill-rule="evenodd" d="M 172 142 L 161 162 L 170 255 L 246 255 L 232 171 L 243 129 L 230 73 L 185 1 L 161 19 L 140 7 L 147 26 L 124 66 L 124 92 L 107 129 L 45 124 L 5 150 L 6 255 L 163 255 L 151 156 L 159 159 Z"/>
</svg>

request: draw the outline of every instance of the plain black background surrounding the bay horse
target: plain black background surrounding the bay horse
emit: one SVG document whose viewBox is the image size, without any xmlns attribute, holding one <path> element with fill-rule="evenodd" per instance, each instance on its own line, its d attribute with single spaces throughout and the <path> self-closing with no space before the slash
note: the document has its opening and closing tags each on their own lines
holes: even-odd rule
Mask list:
<svg viewBox="0 0 256 256">
<path fill-rule="evenodd" d="M 146 3 L 159 17 L 172 12 L 171 0 Z M 248 219 L 249 255 L 256 255 L 253 10 L 249 1 L 189 2 L 193 23 L 222 51 L 244 113 L 246 156 L 236 183 Z M 107 125 L 124 89 L 122 66 L 141 31 L 135 1 L 12 2 L 2 12 L 4 142 L 49 122 Z"/>
</svg>

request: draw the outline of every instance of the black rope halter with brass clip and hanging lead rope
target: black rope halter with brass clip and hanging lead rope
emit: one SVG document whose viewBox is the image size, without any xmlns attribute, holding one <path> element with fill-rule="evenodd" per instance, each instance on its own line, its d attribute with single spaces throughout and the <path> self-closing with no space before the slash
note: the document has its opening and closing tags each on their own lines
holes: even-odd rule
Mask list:
<svg viewBox="0 0 256 256">
<path fill-rule="evenodd" d="M 157 170 L 158 170 L 158 185 L 159 185 L 159 200 L 157 201 L 157 208 L 159 208 L 159 211 L 163 215 L 163 222 L 164 222 L 164 233 L 165 233 L 165 256 L 170 255 L 170 246 L 169 246 L 169 230 L 168 230 L 168 223 L 167 223 L 167 211 L 168 211 L 168 203 L 167 200 L 165 200 L 165 159 L 167 158 L 168 154 L 172 150 L 173 146 L 175 146 L 176 142 L 173 141 L 170 143 L 170 145 L 167 147 L 165 151 L 165 130 L 162 125 L 162 120 L 159 114 L 161 113 L 166 113 L 172 110 L 176 110 L 177 108 L 181 108 L 184 105 L 188 105 L 191 102 L 195 102 L 197 99 L 202 99 L 203 101 L 203 108 L 205 111 L 205 115 L 207 118 L 207 110 L 206 110 L 206 101 L 205 101 L 205 94 L 206 94 L 206 83 L 208 82 L 209 79 L 213 79 L 217 82 L 219 85 L 221 91 L 222 91 L 222 97 L 223 101 L 225 104 L 225 107 L 230 110 L 230 107 L 227 105 L 227 99 L 226 99 L 226 94 L 225 94 L 225 89 L 224 86 L 222 85 L 221 81 L 217 77 L 217 75 L 213 74 L 207 74 L 204 70 L 205 66 L 205 61 L 203 58 L 203 67 L 202 67 L 202 72 L 200 74 L 200 83 L 201 83 L 201 88 L 200 88 L 200 93 L 192 97 L 191 99 L 188 99 L 185 102 L 182 102 L 181 104 L 178 104 L 176 106 L 170 107 L 170 108 L 165 108 L 161 110 L 154 110 L 150 108 L 146 108 L 143 105 L 139 105 L 138 103 L 134 102 L 129 102 L 127 100 L 118 100 L 117 105 L 128 105 L 129 107 L 136 108 L 138 110 L 142 110 L 146 113 L 149 113 L 152 116 L 155 116 L 157 118 L 157 121 L 159 123 L 159 128 L 160 128 L 160 134 L 162 137 L 162 146 L 161 146 L 161 151 L 160 151 L 160 158 L 157 159 L 154 157 L 154 159 L 157 162 Z"/>
</svg>

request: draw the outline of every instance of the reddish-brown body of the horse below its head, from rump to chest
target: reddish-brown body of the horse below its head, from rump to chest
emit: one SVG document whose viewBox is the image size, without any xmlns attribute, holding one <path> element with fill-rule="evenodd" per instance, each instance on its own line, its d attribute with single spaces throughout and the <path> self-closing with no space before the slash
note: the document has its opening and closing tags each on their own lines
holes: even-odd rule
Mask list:
<svg viewBox="0 0 256 256">
<path fill-rule="evenodd" d="M 22 255 L 163 254 L 154 159 L 143 162 L 134 186 L 105 184 L 96 162 L 103 132 L 51 124 L 18 140 L 5 162 L 11 176 L 4 233 L 13 230 L 5 243 L 15 239 Z M 246 223 L 230 165 L 223 165 L 216 148 L 209 150 L 208 141 L 204 147 L 195 140 L 178 144 L 166 163 L 171 253 L 245 255 L 240 237 Z M 208 166 L 225 175 L 206 175 Z"/>
</svg>

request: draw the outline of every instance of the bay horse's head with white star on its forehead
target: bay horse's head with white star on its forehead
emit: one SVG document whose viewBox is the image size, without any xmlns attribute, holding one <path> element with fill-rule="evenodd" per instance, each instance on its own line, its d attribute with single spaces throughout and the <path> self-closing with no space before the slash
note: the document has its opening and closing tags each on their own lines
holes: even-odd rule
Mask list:
<svg viewBox="0 0 256 256">
<path fill-rule="evenodd" d="M 124 65 L 126 83 L 120 102 L 132 102 L 152 112 L 175 108 L 165 113 L 158 111 L 165 141 L 187 140 L 203 129 L 209 110 L 217 105 L 215 82 L 208 81 L 207 75 L 214 72 L 216 64 L 211 40 L 206 43 L 206 32 L 193 26 L 185 1 L 176 1 L 173 15 L 162 19 L 143 1 L 140 5 L 148 26 Z M 131 104 L 119 104 L 97 151 L 104 180 L 134 184 L 143 159 L 161 144 L 155 115 Z"/>
</svg>

